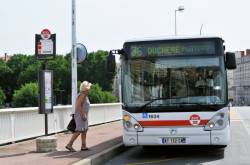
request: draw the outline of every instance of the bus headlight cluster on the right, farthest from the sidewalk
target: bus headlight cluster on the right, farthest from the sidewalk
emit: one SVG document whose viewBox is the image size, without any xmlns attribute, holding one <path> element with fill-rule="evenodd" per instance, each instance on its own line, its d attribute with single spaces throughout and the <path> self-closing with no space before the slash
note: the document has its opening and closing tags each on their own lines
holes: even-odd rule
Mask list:
<svg viewBox="0 0 250 165">
<path fill-rule="evenodd" d="M 228 111 L 221 110 L 216 113 L 211 120 L 205 125 L 204 130 L 211 131 L 211 130 L 222 130 L 228 124 Z"/>
</svg>

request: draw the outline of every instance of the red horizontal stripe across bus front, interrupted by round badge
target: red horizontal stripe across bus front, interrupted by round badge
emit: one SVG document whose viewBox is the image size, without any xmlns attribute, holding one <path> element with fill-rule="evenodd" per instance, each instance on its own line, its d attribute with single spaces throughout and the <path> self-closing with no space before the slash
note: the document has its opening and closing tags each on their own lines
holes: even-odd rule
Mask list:
<svg viewBox="0 0 250 165">
<path fill-rule="evenodd" d="M 201 120 L 199 126 L 206 125 L 209 120 Z M 149 126 L 192 126 L 189 120 L 144 120 L 139 121 L 142 127 Z"/>
</svg>

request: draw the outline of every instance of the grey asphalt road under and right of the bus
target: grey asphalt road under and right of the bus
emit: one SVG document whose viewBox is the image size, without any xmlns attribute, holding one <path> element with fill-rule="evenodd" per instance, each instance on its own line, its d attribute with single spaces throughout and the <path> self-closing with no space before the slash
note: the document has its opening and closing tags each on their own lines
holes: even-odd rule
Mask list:
<svg viewBox="0 0 250 165">
<path fill-rule="evenodd" d="M 250 107 L 232 108 L 231 142 L 205 147 L 131 147 L 105 165 L 250 165 Z"/>
</svg>

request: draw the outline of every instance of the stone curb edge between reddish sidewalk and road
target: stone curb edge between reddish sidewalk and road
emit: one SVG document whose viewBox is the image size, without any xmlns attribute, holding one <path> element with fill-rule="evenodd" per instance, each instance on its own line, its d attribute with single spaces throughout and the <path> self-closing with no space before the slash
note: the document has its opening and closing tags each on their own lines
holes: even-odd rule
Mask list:
<svg viewBox="0 0 250 165">
<path fill-rule="evenodd" d="M 100 153 L 97 153 L 88 158 L 85 158 L 76 163 L 73 163 L 72 165 L 100 165 L 100 164 L 103 164 L 103 162 L 111 159 L 113 156 L 121 153 L 124 149 L 125 147 L 123 146 L 123 143 L 119 143 Z"/>
</svg>

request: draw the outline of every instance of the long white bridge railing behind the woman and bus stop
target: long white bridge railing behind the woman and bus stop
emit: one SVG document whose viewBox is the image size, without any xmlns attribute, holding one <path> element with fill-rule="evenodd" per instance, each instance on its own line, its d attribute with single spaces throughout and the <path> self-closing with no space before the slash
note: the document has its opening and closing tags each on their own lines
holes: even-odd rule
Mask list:
<svg viewBox="0 0 250 165">
<path fill-rule="evenodd" d="M 121 104 L 91 104 L 89 125 L 121 119 Z M 71 105 L 54 106 L 48 115 L 48 133 L 66 130 L 71 119 Z M 44 115 L 37 107 L 0 109 L 0 144 L 15 142 L 45 134 Z"/>
</svg>

